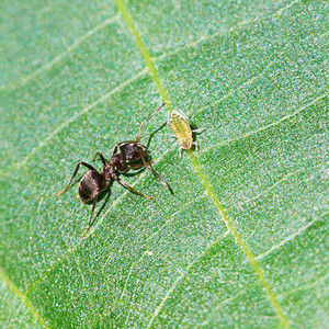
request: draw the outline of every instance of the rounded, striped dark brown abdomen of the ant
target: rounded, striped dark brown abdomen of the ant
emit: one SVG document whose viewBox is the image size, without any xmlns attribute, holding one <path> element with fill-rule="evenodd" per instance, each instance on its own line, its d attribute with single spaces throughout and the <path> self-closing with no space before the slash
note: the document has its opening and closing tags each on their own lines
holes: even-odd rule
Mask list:
<svg viewBox="0 0 329 329">
<path fill-rule="evenodd" d="M 97 170 L 88 171 L 79 184 L 79 196 L 83 203 L 93 201 L 102 191 L 106 190 L 104 177 Z"/>
</svg>

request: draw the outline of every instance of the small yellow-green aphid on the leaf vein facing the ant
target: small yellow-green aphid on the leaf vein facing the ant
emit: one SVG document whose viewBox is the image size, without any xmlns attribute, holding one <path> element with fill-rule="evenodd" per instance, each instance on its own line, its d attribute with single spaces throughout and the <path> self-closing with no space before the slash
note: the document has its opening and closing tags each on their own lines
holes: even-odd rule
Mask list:
<svg viewBox="0 0 329 329">
<path fill-rule="evenodd" d="M 180 143 L 180 158 L 182 158 L 182 149 L 190 149 L 195 145 L 197 150 L 197 143 L 193 141 L 192 133 L 201 133 L 203 129 L 191 129 L 189 117 L 182 111 L 168 112 L 167 124 L 172 129 L 174 137 Z"/>
</svg>

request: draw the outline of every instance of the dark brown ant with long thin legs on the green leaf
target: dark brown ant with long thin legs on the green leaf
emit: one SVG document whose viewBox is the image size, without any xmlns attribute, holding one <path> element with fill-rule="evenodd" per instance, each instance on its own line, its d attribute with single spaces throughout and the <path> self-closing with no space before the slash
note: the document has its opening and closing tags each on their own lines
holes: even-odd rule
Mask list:
<svg viewBox="0 0 329 329">
<path fill-rule="evenodd" d="M 126 189 L 131 190 L 132 192 L 134 192 L 138 195 L 141 195 L 148 200 L 154 200 L 154 197 L 147 196 L 147 195 L 136 191 L 135 189 L 129 186 L 127 183 L 122 181 L 118 178 L 117 172 L 125 173 L 131 168 L 139 169 L 139 168 L 146 167 L 161 181 L 164 189 L 168 189 L 168 184 L 166 183 L 166 181 L 160 177 L 160 174 L 158 172 L 156 172 L 151 168 L 151 166 L 150 166 L 151 162 L 146 161 L 145 157 L 148 155 L 147 147 L 139 144 L 139 140 L 141 138 L 140 133 L 141 133 L 144 125 L 149 120 L 151 120 L 164 105 L 166 105 L 166 102 L 160 107 L 158 107 L 157 111 L 140 125 L 136 140 L 126 140 L 126 141 L 122 141 L 122 143 L 118 143 L 115 145 L 113 155 L 109 162 L 106 162 L 105 158 L 103 157 L 103 155 L 101 152 L 95 154 L 94 159 L 99 156 L 103 163 L 102 172 L 99 172 L 91 164 L 80 161 L 77 164 L 76 170 L 75 170 L 67 188 L 57 194 L 59 196 L 69 189 L 72 180 L 75 179 L 76 174 L 78 173 L 80 166 L 84 166 L 89 169 L 89 171 L 80 180 L 79 196 L 83 203 L 89 203 L 89 202 L 93 201 L 93 205 L 92 205 L 91 215 L 89 218 L 89 224 L 88 224 L 84 232 L 81 235 L 81 238 L 84 237 L 84 235 L 88 232 L 88 230 L 91 226 L 92 215 L 93 215 L 93 212 L 95 208 L 95 204 L 97 204 L 99 194 L 109 188 L 112 180 L 117 181 L 123 186 L 125 186 Z M 135 163 L 140 159 L 141 159 L 143 163 Z"/>
</svg>

